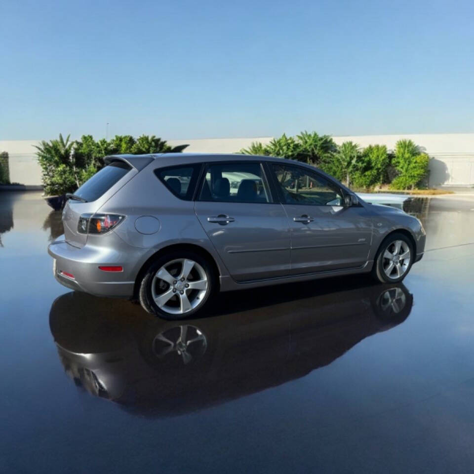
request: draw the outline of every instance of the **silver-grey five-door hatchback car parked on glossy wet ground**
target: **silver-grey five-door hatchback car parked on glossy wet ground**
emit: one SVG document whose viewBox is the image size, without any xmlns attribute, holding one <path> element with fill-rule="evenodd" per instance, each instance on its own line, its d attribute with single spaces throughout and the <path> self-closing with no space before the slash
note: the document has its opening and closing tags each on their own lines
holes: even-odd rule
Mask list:
<svg viewBox="0 0 474 474">
<path fill-rule="evenodd" d="M 239 155 L 117 155 L 69 200 L 49 245 L 54 276 L 99 296 L 139 299 L 166 319 L 216 291 L 369 273 L 396 283 L 426 234 L 296 161 Z"/>
</svg>

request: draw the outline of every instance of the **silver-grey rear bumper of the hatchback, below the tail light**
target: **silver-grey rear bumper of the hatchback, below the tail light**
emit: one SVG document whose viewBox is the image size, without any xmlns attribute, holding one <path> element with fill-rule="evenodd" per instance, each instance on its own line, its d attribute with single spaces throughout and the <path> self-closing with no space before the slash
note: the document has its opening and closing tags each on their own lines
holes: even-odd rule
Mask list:
<svg viewBox="0 0 474 474">
<path fill-rule="evenodd" d="M 56 260 L 54 277 L 67 288 L 97 296 L 130 298 L 150 250 L 129 245 L 124 248 L 121 239 L 119 247 L 77 248 L 59 238 L 48 246 L 48 253 Z M 123 271 L 103 272 L 99 265 L 122 266 Z"/>
</svg>

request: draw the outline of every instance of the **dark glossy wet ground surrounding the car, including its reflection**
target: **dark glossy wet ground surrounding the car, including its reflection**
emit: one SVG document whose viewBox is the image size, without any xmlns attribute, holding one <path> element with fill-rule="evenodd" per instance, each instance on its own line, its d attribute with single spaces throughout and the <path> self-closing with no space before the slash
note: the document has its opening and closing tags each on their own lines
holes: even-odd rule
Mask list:
<svg viewBox="0 0 474 474">
<path fill-rule="evenodd" d="M 0 193 L 0 472 L 473 472 L 474 197 L 419 203 L 404 285 L 229 293 L 176 324 L 60 286 L 60 216 Z"/>
</svg>

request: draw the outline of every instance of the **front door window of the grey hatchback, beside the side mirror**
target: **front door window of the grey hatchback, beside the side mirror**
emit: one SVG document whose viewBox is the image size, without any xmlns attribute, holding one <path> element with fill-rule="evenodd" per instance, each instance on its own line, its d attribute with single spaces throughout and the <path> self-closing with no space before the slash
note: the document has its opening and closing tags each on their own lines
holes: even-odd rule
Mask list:
<svg viewBox="0 0 474 474">
<path fill-rule="evenodd" d="M 329 180 L 297 166 L 273 164 L 278 186 L 287 204 L 341 206 L 342 192 Z"/>
</svg>

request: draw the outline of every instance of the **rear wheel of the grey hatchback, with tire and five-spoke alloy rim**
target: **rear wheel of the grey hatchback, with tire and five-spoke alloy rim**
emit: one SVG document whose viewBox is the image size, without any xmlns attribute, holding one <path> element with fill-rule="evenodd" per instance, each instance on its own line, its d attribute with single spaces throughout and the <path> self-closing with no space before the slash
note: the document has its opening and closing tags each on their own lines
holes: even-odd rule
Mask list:
<svg viewBox="0 0 474 474">
<path fill-rule="evenodd" d="M 140 283 L 139 299 L 148 313 L 179 320 L 201 313 L 215 287 L 216 275 L 205 257 L 193 250 L 176 250 L 150 264 Z"/>
</svg>

